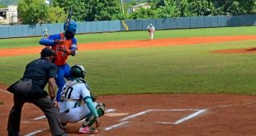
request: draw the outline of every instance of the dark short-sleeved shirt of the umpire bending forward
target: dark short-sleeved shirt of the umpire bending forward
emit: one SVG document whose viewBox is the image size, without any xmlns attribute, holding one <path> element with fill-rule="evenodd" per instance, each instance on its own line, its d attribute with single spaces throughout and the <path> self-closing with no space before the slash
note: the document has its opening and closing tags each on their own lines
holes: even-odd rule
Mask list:
<svg viewBox="0 0 256 136">
<path fill-rule="evenodd" d="M 45 88 L 50 77 L 56 77 L 58 67 L 48 59 L 36 59 L 26 65 L 23 79 L 33 79 L 42 89 Z"/>
</svg>

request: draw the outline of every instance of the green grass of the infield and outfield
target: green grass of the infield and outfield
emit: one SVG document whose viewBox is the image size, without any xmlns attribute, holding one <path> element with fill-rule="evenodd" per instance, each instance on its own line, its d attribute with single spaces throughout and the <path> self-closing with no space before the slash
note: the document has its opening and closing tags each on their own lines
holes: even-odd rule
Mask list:
<svg viewBox="0 0 256 136">
<path fill-rule="evenodd" d="M 159 30 L 156 38 L 256 35 L 256 27 Z M 102 36 L 104 35 L 104 36 Z M 136 35 L 136 36 L 134 36 Z M 145 40 L 145 31 L 78 35 L 78 42 Z M 36 45 L 40 38 L 0 40 L 0 48 Z M 18 45 L 18 43 L 21 43 Z M 38 45 L 38 44 L 37 44 Z M 98 95 L 141 93 L 230 93 L 256 95 L 255 54 L 211 54 L 217 49 L 255 47 L 256 40 L 139 49 L 80 51 L 69 64 L 83 64 Z M 38 55 L 0 59 L 0 82 L 11 84 Z"/>
</svg>

